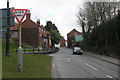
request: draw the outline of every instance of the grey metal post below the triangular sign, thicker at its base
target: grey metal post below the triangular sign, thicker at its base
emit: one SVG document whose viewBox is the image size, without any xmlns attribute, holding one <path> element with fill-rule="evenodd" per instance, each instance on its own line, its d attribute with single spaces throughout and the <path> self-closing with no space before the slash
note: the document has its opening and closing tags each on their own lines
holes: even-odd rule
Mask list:
<svg viewBox="0 0 120 80">
<path fill-rule="evenodd" d="M 19 24 L 18 71 L 22 72 L 21 24 Z"/>
</svg>

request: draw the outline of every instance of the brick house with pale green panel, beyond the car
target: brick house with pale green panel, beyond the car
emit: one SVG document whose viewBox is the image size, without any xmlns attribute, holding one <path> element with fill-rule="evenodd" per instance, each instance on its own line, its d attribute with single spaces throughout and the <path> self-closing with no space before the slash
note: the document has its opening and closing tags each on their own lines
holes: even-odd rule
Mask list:
<svg viewBox="0 0 120 80">
<path fill-rule="evenodd" d="M 67 34 L 67 47 L 73 47 L 73 46 L 80 46 L 80 36 L 82 36 L 82 33 L 77 31 L 76 29 L 73 29 Z"/>
</svg>

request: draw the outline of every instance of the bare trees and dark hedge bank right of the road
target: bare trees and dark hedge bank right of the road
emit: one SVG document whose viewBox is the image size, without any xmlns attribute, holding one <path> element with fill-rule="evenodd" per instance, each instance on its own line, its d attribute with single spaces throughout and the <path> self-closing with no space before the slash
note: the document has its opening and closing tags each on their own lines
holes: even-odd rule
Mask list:
<svg viewBox="0 0 120 80">
<path fill-rule="evenodd" d="M 119 3 L 91 1 L 79 8 L 77 22 L 83 31 L 84 45 L 107 48 L 120 44 Z"/>
</svg>

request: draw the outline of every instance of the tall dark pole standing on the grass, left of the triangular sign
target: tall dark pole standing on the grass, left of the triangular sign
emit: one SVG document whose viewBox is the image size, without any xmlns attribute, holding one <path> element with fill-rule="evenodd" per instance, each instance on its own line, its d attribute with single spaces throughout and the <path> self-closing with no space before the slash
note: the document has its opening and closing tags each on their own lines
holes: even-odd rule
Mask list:
<svg viewBox="0 0 120 80">
<path fill-rule="evenodd" d="M 9 0 L 7 0 L 7 30 L 6 30 L 6 52 L 5 56 L 9 55 L 9 38 L 10 38 L 10 8 L 9 8 Z"/>
</svg>

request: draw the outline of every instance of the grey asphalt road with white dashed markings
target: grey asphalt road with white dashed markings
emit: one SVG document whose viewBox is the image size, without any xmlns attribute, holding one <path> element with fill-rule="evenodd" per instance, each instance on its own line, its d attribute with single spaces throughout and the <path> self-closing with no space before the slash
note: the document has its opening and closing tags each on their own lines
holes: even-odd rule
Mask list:
<svg viewBox="0 0 120 80">
<path fill-rule="evenodd" d="M 88 55 L 73 55 L 72 49 L 60 48 L 53 57 L 53 78 L 91 78 L 117 80 L 118 66 Z"/>
</svg>

